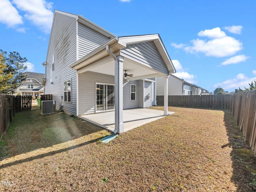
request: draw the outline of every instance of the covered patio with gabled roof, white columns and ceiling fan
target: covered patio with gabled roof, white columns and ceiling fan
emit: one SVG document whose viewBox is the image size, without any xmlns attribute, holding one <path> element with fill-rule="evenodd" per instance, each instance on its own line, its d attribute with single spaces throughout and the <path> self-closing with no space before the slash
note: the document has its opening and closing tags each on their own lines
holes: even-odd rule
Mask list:
<svg viewBox="0 0 256 192">
<path fill-rule="evenodd" d="M 169 114 L 168 76 L 171 73 L 175 73 L 175 68 L 158 34 L 111 38 L 70 67 L 77 70 L 78 76 L 77 116 L 88 120 L 92 118 L 92 122 L 97 122 L 98 119 L 101 119 L 100 121 L 102 122 L 99 124 L 107 126 L 110 130 L 114 128 L 114 133 L 122 133 L 130 127 L 127 122 L 134 121 L 136 122 L 134 126 L 138 127 L 138 120 L 160 118 Z M 126 71 L 132 75 L 126 78 L 124 76 Z M 154 81 L 150 80 L 150 78 L 159 76 L 164 76 L 164 111 L 156 112 L 153 116 L 139 116 L 139 113 L 132 114 L 128 110 L 124 110 L 128 109 L 128 107 L 124 108 L 124 102 L 133 102 L 129 98 L 130 93 L 124 93 L 124 85 L 127 82 L 135 80 Z M 88 85 L 89 83 L 90 86 Z M 114 106 L 111 106 L 111 109 L 114 109 L 114 111 L 98 113 L 101 111 L 98 111 L 98 106 L 96 105 L 99 97 L 95 95 L 95 85 L 100 86 L 100 83 L 102 86 L 107 87 L 114 85 L 114 92 L 111 90 L 114 93 L 114 102 L 112 102 Z M 150 98 L 150 94 L 146 95 L 145 84 L 138 85 L 138 87 L 138 92 L 135 92 L 141 93 L 142 97 L 140 97 L 140 101 L 137 98 L 137 106 L 130 108 L 148 107 L 145 105 L 144 98 Z M 96 89 L 101 90 L 100 87 L 96 87 Z M 105 98 L 108 97 L 112 97 L 112 95 L 105 96 Z M 106 108 L 108 109 L 108 106 Z M 103 110 L 105 111 L 104 107 Z M 125 114 L 126 111 L 127 114 Z M 84 116 L 85 114 L 86 116 Z M 106 118 L 106 114 L 111 117 L 109 116 L 104 122 L 103 119 Z M 143 114 L 146 114 L 146 112 Z M 94 118 L 95 120 L 93 120 Z M 124 130 L 125 122 L 126 130 Z M 130 129 L 135 128 L 134 126 L 131 126 Z"/>
</svg>

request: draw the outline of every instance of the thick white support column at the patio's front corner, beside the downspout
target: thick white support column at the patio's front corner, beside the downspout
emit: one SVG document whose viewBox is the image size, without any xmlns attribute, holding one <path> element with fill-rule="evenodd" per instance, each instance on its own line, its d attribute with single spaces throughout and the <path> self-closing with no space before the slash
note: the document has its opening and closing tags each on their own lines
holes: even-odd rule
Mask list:
<svg viewBox="0 0 256 192">
<path fill-rule="evenodd" d="M 124 132 L 123 62 L 124 62 L 124 57 L 117 56 L 117 62 L 115 62 L 115 127 L 118 127 L 118 133 Z"/>
</svg>

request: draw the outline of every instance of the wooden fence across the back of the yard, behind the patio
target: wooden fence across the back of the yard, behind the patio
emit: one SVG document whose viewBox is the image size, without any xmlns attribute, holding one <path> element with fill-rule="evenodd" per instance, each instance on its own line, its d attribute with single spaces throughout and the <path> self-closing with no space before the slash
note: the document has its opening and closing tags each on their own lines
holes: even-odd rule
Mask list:
<svg viewBox="0 0 256 192">
<path fill-rule="evenodd" d="M 164 96 L 156 96 L 156 104 L 164 105 Z M 230 109 L 232 95 L 174 95 L 168 96 L 168 106 Z"/>
</svg>

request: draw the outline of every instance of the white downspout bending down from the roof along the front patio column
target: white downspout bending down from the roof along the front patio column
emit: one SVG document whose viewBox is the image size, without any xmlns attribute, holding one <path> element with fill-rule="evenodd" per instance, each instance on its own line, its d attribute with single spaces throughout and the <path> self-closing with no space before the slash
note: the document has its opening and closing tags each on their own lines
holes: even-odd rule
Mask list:
<svg viewBox="0 0 256 192">
<path fill-rule="evenodd" d="M 119 130 L 119 100 L 116 99 L 119 96 L 119 90 L 118 90 L 118 70 L 116 70 L 118 68 L 118 59 L 117 57 L 114 55 L 114 53 L 111 52 L 110 50 L 110 46 L 107 45 L 106 46 L 106 51 L 108 52 L 108 54 L 110 56 L 112 56 L 112 58 L 114 58 L 115 61 L 115 129 L 114 129 L 114 134 L 116 134 Z"/>
</svg>

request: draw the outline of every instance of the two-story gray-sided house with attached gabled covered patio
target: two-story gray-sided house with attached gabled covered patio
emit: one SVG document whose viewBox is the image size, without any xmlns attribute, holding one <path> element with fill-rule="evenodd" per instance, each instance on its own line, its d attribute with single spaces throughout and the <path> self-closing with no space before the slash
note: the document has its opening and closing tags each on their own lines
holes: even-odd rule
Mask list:
<svg viewBox="0 0 256 192">
<path fill-rule="evenodd" d="M 76 116 L 115 110 L 114 132 L 123 132 L 123 109 L 155 104 L 155 77 L 164 76 L 167 95 L 167 76 L 175 72 L 158 34 L 117 37 L 57 10 L 43 65 L 44 94 L 53 94 L 56 108 Z"/>
</svg>

